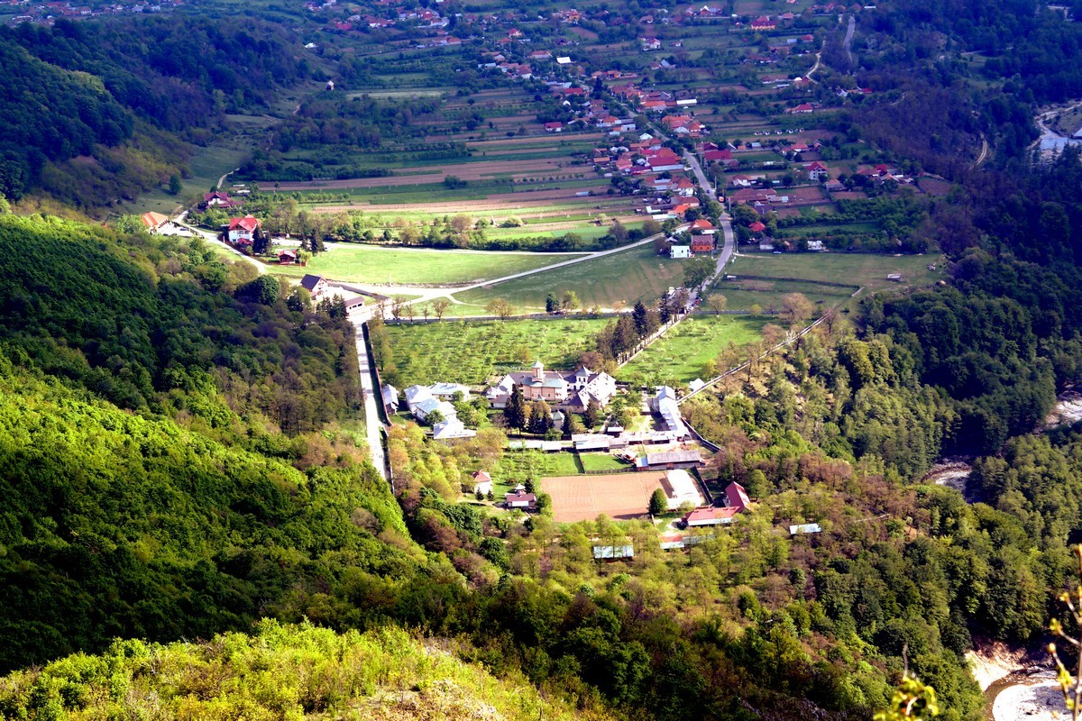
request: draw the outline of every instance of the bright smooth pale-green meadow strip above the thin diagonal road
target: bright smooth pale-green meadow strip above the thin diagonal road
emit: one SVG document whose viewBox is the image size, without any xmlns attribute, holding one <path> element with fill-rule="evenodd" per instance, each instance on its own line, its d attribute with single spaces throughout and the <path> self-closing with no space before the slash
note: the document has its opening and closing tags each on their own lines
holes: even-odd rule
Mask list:
<svg viewBox="0 0 1082 721">
<path fill-rule="evenodd" d="M 290 276 L 315 273 L 356 283 L 443 284 L 478 281 L 543 268 L 575 255 L 335 245 L 306 267 L 281 268 Z M 543 301 L 543 298 L 542 298 Z"/>
</svg>

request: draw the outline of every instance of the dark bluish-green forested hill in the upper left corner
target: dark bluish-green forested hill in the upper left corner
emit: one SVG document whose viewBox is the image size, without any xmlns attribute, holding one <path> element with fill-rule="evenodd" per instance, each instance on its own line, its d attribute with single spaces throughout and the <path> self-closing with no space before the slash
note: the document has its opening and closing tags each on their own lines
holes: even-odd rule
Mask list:
<svg viewBox="0 0 1082 721">
<path fill-rule="evenodd" d="M 306 77 L 294 45 L 278 25 L 182 13 L 0 28 L 0 195 L 134 199 L 185 172 L 184 141 Z"/>
</svg>

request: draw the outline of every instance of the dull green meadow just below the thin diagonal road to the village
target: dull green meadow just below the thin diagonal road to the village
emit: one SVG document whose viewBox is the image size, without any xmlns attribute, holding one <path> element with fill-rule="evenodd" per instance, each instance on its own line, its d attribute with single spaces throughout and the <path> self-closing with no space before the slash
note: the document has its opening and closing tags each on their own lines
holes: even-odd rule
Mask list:
<svg viewBox="0 0 1082 721">
<path fill-rule="evenodd" d="M 484 315 L 485 306 L 493 298 L 504 298 L 522 311 L 539 311 L 544 309 L 544 299 L 550 292 L 558 295 L 564 291 L 575 291 L 586 308 L 595 305 L 613 308 L 618 304 L 630 307 L 639 298 L 654 304 L 670 286 L 683 282 L 683 273 L 682 261 L 658 256 L 654 245 L 647 243 L 490 289 L 459 293 L 454 297 L 465 305 L 452 306 L 452 312 Z"/>
</svg>

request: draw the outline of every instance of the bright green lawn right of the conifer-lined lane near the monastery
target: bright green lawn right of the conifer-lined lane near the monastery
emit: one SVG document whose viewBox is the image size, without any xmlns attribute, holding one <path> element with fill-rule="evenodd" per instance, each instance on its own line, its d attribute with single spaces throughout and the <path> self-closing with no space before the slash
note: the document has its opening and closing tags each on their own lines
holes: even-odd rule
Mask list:
<svg viewBox="0 0 1082 721">
<path fill-rule="evenodd" d="M 765 318 L 745 316 L 691 316 L 681 321 L 633 361 L 620 369 L 618 379 L 646 385 L 686 386 L 710 375 L 703 366 L 729 344 L 758 339 Z"/>
</svg>

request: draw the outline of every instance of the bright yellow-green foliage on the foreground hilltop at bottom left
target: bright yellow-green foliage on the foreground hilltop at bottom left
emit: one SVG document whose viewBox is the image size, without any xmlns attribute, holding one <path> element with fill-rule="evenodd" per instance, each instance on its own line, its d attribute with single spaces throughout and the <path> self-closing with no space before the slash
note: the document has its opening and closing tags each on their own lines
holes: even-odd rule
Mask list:
<svg viewBox="0 0 1082 721">
<path fill-rule="evenodd" d="M 387 627 L 358 633 L 264 620 L 206 643 L 117 641 L 0 679 L 3 719 L 599 718 L 544 700 Z"/>
</svg>

